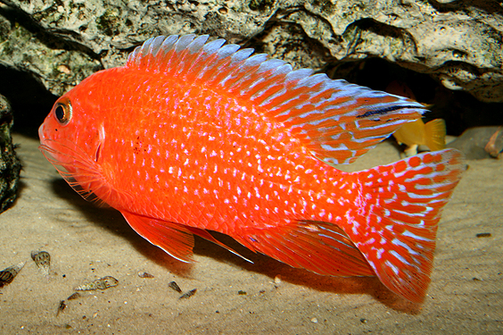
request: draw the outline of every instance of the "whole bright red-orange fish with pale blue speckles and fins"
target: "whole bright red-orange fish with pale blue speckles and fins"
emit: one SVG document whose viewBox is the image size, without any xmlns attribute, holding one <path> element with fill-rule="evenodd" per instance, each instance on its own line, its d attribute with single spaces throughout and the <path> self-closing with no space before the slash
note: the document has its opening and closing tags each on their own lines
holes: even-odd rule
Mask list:
<svg viewBox="0 0 503 335">
<path fill-rule="evenodd" d="M 353 162 L 424 106 L 207 39 L 151 38 L 83 80 L 40 126 L 45 157 L 181 261 L 194 234 L 223 246 L 215 230 L 293 267 L 376 275 L 421 302 L 462 156 L 352 173 L 331 163 Z"/>
</svg>

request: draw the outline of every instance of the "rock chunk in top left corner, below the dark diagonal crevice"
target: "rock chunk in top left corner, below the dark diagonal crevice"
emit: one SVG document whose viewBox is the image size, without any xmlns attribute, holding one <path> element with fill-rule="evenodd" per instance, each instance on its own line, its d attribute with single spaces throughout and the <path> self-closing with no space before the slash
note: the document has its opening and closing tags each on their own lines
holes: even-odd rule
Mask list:
<svg viewBox="0 0 503 335">
<path fill-rule="evenodd" d="M 103 69 L 99 55 L 87 46 L 59 38 L 57 32 L 37 22 L 40 8 L 35 6 L 29 16 L 7 3 L 0 3 L 0 64 L 29 72 L 56 96 Z"/>
</svg>

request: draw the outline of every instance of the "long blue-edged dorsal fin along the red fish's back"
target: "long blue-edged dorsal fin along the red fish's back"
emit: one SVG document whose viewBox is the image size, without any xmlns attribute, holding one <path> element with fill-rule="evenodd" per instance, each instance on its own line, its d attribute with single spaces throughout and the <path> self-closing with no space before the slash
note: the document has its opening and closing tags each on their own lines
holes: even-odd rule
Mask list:
<svg viewBox="0 0 503 335">
<path fill-rule="evenodd" d="M 329 163 L 352 163 L 401 124 L 426 112 L 406 97 L 330 80 L 309 69 L 293 71 L 290 64 L 266 54 L 223 46 L 224 39 L 207 40 L 195 35 L 150 38 L 129 55 L 126 67 L 161 72 L 242 98 L 283 122 L 290 136 Z"/>
</svg>

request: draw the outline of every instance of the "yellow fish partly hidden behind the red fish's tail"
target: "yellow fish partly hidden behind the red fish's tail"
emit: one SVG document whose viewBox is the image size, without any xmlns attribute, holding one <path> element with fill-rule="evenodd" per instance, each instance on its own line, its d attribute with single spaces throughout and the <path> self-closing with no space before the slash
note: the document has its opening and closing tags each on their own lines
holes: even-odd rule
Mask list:
<svg viewBox="0 0 503 335">
<path fill-rule="evenodd" d="M 416 100 L 412 90 L 398 80 L 393 80 L 386 88 L 386 92 Z M 444 149 L 445 134 L 445 121 L 442 119 L 435 119 L 427 123 L 422 119 L 417 119 L 402 125 L 393 133 L 393 137 L 400 145 L 407 146 L 405 154 L 411 156 L 417 154 L 419 146 L 426 146 L 432 151 Z"/>
</svg>

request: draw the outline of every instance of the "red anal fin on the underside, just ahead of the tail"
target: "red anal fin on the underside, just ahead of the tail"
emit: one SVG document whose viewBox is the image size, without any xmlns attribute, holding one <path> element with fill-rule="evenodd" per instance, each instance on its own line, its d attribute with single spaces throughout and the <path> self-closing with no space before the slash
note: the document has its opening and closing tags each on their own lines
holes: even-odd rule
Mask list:
<svg viewBox="0 0 503 335">
<path fill-rule="evenodd" d="M 330 222 L 291 222 L 247 229 L 234 237 L 243 246 L 296 268 L 332 276 L 373 276 L 365 257 Z"/>
</svg>

